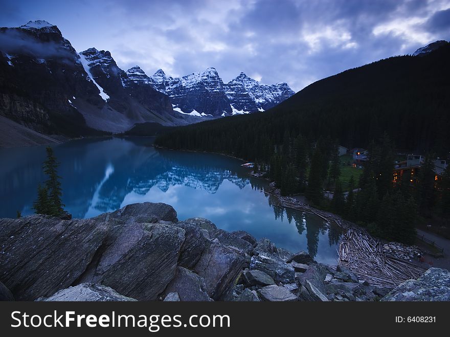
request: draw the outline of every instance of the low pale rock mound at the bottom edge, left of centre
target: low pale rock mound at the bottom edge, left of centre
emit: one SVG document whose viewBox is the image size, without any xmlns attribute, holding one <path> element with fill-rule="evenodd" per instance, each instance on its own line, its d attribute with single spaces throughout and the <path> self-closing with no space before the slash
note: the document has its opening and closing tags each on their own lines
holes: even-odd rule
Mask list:
<svg viewBox="0 0 450 337">
<path fill-rule="evenodd" d="M 74 287 L 69 287 L 57 291 L 49 298 L 42 299 L 42 301 L 136 301 L 133 298 L 120 295 L 116 290 L 101 285 L 82 283 Z"/>
</svg>

